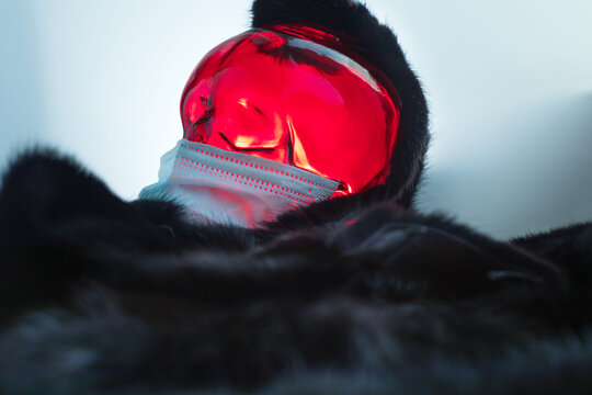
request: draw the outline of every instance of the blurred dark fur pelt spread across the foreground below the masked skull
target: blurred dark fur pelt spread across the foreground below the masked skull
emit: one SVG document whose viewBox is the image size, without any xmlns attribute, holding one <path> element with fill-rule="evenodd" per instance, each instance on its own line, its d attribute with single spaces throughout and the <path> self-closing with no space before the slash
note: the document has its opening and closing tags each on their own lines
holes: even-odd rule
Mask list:
<svg viewBox="0 0 592 395">
<path fill-rule="evenodd" d="M 353 196 L 196 227 L 36 151 L 0 244 L 0 393 L 592 388 L 590 224 L 500 242 Z"/>
</svg>

